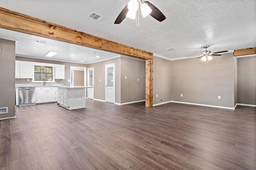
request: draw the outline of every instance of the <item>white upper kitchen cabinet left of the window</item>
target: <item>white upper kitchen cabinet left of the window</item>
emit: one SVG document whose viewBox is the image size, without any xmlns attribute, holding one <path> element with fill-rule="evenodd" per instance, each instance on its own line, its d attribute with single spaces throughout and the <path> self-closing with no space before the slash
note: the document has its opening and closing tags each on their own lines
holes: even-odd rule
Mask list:
<svg viewBox="0 0 256 170">
<path fill-rule="evenodd" d="M 34 64 L 25 61 L 15 61 L 15 78 L 33 78 Z"/>
</svg>

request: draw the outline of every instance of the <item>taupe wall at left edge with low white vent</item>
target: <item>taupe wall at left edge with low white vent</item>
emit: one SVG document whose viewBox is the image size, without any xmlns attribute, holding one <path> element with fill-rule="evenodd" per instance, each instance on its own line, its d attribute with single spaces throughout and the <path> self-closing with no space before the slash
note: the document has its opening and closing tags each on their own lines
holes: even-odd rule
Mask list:
<svg viewBox="0 0 256 170">
<path fill-rule="evenodd" d="M 15 41 L 0 39 L 0 107 L 8 107 L 0 119 L 15 116 Z"/>
</svg>

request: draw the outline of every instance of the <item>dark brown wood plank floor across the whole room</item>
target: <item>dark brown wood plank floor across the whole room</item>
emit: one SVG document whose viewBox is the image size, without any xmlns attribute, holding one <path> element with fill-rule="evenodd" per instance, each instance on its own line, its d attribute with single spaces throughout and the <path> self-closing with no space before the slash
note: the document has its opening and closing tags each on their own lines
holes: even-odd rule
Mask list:
<svg viewBox="0 0 256 170">
<path fill-rule="evenodd" d="M 256 107 L 17 107 L 0 121 L 0 169 L 255 170 Z"/>
</svg>

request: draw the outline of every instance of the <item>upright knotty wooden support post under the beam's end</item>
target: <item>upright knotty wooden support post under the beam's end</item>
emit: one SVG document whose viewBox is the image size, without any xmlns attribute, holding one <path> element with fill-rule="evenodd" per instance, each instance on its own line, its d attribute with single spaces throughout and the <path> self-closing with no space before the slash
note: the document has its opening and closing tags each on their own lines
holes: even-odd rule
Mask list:
<svg viewBox="0 0 256 170">
<path fill-rule="evenodd" d="M 146 60 L 146 107 L 153 107 L 153 59 Z"/>
</svg>

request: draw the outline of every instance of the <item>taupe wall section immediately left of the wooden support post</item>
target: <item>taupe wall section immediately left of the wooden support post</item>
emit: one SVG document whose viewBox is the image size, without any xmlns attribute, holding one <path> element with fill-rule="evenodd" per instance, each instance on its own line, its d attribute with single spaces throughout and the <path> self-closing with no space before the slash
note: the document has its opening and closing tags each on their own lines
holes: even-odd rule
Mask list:
<svg viewBox="0 0 256 170">
<path fill-rule="evenodd" d="M 126 79 L 125 79 L 126 77 Z M 121 57 L 121 103 L 145 100 L 145 60 Z M 138 81 L 139 79 L 139 81 Z"/>
</svg>

